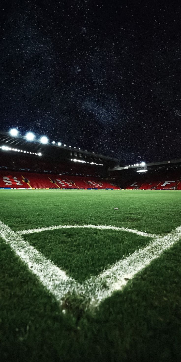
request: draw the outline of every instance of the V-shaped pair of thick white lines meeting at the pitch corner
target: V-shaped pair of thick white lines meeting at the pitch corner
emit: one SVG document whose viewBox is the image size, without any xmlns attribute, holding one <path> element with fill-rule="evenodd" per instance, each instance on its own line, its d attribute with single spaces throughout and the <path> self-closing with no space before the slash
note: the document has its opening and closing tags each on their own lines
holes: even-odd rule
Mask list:
<svg viewBox="0 0 181 362">
<path fill-rule="evenodd" d="M 122 228 L 119 229 L 122 230 Z M 72 294 L 74 292 L 81 297 L 85 308 L 94 308 L 102 300 L 111 296 L 114 291 L 121 290 L 135 274 L 148 266 L 151 261 L 159 258 L 174 243 L 178 242 L 181 239 L 181 226 L 163 237 L 157 235 L 146 248 L 139 249 L 125 259 L 119 260 L 109 269 L 103 271 L 97 277 L 87 279 L 83 284 L 68 277 L 63 270 L 59 269 L 34 247 L 24 241 L 21 235 L 2 222 L 0 222 L 0 236 L 25 262 L 32 273 L 37 275 L 46 289 L 59 302 L 67 293 Z"/>
</svg>

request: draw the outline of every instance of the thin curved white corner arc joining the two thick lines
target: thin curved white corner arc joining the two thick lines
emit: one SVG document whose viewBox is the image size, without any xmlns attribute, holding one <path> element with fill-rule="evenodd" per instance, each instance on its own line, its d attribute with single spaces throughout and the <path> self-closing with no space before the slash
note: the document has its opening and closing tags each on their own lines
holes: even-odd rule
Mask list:
<svg viewBox="0 0 181 362">
<path fill-rule="evenodd" d="M 134 234 L 140 235 L 140 236 L 145 236 L 145 237 L 151 237 L 154 238 L 157 235 L 154 234 L 150 234 L 147 232 L 143 232 L 143 231 L 138 231 L 138 230 L 134 230 L 134 229 L 127 229 L 125 227 L 117 227 L 117 226 L 110 226 L 110 225 L 55 225 L 55 226 L 47 226 L 47 227 L 42 227 L 42 228 L 34 228 L 34 229 L 30 229 L 30 230 L 20 230 L 17 231 L 17 234 L 19 235 L 28 235 L 28 234 L 33 234 L 36 232 L 42 232 L 42 231 L 51 231 L 51 230 L 59 230 L 59 229 L 71 229 L 71 228 L 75 228 L 75 229 L 98 229 L 98 230 L 115 230 L 115 231 L 127 231 L 127 232 L 132 232 Z"/>
</svg>

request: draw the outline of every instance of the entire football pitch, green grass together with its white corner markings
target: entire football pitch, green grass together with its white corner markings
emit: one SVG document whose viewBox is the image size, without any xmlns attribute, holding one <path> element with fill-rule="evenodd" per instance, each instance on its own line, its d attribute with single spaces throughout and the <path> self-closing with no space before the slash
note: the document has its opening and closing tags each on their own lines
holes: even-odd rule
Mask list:
<svg viewBox="0 0 181 362">
<path fill-rule="evenodd" d="M 0 360 L 181 361 L 180 205 L 179 191 L 1 190 Z"/>
</svg>

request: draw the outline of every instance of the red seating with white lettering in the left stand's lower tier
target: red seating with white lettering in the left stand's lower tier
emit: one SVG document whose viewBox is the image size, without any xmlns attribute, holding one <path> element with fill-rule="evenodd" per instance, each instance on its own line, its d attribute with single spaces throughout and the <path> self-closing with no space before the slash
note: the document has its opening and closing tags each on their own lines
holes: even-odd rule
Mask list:
<svg viewBox="0 0 181 362">
<path fill-rule="evenodd" d="M 62 177 L 56 174 L 31 172 L 0 172 L 0 188 L 52 188 L 52 189 L 120 189 L 108 181 L 89 177 Z"/>
</svg>

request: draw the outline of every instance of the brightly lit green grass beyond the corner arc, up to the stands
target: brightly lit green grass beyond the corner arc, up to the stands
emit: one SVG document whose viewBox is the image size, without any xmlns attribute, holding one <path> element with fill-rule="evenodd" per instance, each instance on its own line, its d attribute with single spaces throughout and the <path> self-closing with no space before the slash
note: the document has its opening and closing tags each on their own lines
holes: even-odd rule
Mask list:
<svg viewBox="0 0 181 362">
<path fill-rule="evenodd" d="M 0 199 L 1 220 L 13 230 L 92 223 L 164 233 L 180 225 L 179 191 L 1 190 Z"/>
</svg>

